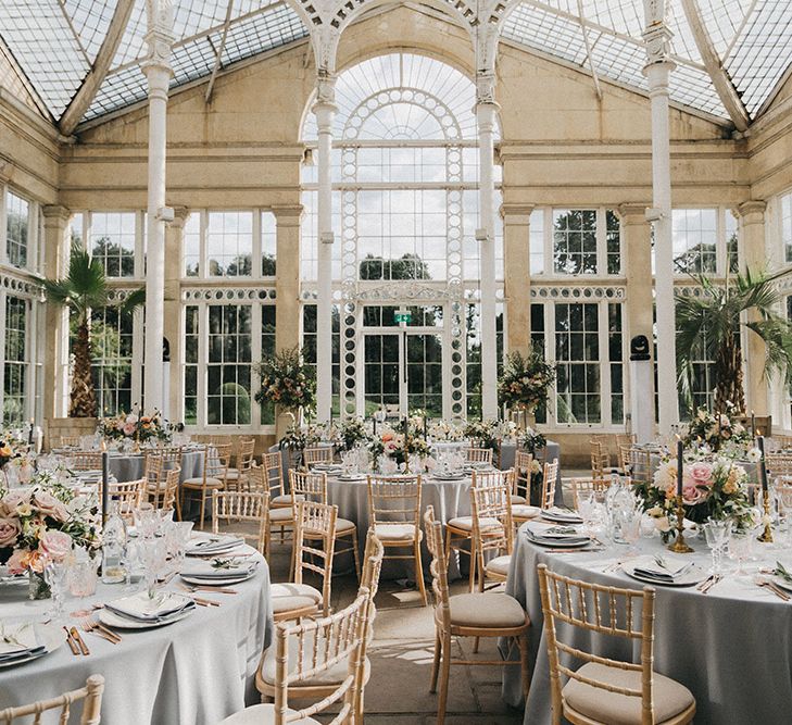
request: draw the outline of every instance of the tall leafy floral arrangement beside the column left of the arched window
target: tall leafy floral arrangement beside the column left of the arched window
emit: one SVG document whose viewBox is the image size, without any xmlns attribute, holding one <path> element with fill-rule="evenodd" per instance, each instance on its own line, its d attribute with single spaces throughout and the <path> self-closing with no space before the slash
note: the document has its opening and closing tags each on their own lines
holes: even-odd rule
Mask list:
<svg viewBox="0 0 792 725">
<path fill-rule="evenodd" d="M 289 411 L 316 408 L 316 376 L 299 347 L 265 355 L 256 370 L 261 376 L 257 402 L 272 402 Z"/>
</svg>

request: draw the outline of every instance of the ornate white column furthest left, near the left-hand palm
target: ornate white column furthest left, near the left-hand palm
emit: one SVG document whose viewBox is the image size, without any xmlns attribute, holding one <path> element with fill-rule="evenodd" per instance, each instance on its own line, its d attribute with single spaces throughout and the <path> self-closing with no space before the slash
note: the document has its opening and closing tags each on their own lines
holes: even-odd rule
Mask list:
<svg viewBox="0 0 792 725">
<path fill-rule="evenodd" d="M 147 411 L 163 410 L 164 367 L 162 340 L 165 311 L 165 222 L 173 217 L 165 208 L 165 147 L 167 86 L 171 80 L 173 10 L 169 0 L 149 0 L 146 42 L 149 54 L 142 71 L 149 83 L 149 200 L 146 264 L 146 348 L 143 355 L 143 404 Z"/>
</svg>

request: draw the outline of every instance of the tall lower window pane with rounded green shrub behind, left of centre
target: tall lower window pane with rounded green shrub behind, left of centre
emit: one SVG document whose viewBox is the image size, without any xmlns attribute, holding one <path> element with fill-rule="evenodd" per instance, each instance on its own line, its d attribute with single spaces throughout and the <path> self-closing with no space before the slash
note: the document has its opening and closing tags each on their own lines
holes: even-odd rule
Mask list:
<svg viewBox="0 0 792 725">
<path fill-rule="evenodd" d="M 251 307 L 209 308 L 206 423 L 250 424 Z"/>
</svg>

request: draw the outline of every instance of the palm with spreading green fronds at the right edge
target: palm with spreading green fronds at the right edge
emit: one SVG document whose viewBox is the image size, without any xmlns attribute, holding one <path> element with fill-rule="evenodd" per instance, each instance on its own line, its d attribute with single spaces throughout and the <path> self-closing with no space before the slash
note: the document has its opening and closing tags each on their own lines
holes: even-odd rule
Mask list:
<svg viewBox="0 0 792 725">
<path fill-rule="evenodd" d="M 746 270 L 724 286 L 704 275 L 693 275 L 702 295 L 677 295 L 677 371 L 683 392 L 690 397 L 695 352 L 714 363 L 715 407 L 733 403 L 745 413 L 740 334 L 758 335 L 765 343 L 765 375 L 778 374 L 792 383 L 792 323 L 776 312 L 781 293 L 775 282 L 783 273 Z M 744 314 L 746 313 L 746 314 Z"/>
</svg>

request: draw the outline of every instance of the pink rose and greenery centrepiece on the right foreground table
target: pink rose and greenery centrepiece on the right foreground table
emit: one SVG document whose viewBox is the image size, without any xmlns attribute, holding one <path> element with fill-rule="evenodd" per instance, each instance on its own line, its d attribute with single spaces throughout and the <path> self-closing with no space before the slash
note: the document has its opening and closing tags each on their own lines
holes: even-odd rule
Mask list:
<svg viewBox="0 0 792 725">
<path fill-rule="evenodd" d="M 754 448 L 749 451 L 747 459 L 757 463 L 762 454 Z M 682 476 L 686 518 L 696 523 L 731 518 L 738 528 L 753 523 L 747 497 L 749 474 L 734 459 L 694 449 L 684 455 Z M 664 457 L 653 480 L 637 482 L 632 490 L 643 499 L 644 511 L 655 518 L 663 540 L 668 540 L 676 526 L 677 459 Z"/>
</svg>

